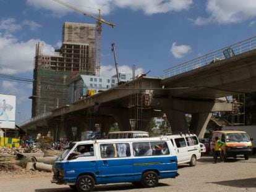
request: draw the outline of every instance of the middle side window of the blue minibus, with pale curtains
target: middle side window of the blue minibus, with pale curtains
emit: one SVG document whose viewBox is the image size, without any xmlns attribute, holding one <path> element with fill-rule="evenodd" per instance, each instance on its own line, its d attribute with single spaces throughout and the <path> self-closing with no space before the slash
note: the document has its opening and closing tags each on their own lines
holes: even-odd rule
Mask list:
<svg viewBox="0 0 256 192">
<path fill-rule="evenodd" d="M 100 144 L 101 158 L 130 157 L 128 143 L 107 143 Z"/>
</svg>

